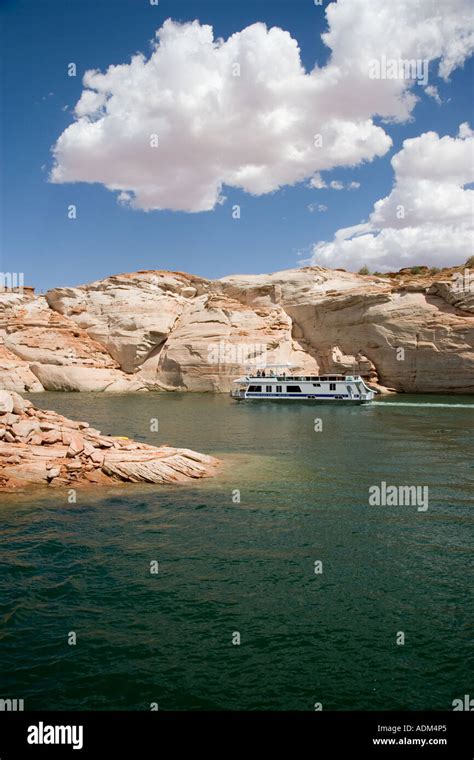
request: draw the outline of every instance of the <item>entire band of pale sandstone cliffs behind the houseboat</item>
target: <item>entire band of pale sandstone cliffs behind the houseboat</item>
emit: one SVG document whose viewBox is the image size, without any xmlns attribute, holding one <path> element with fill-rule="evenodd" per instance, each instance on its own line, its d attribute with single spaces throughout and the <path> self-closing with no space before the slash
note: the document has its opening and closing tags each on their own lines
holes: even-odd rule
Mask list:
<svg viewBox="0 0 474 760">
<path fill-rule="evenodd" d="M 383 277 L 305 267 L 219 280 L 151 271 L 46 299 L 0 295 L 0 386 L 228 391 L 260 361 L 357 372 L 399 391 L 472 393 L 469 277 L 463 267 Z"/>
</svg>

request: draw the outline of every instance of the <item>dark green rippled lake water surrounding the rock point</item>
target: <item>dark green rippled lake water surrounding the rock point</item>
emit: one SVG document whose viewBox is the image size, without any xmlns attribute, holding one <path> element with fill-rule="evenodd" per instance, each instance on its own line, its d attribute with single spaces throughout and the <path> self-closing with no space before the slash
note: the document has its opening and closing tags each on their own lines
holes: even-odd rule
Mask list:
<svg viewBox="0 0 474 760">
<path fill-rule="evenodd" d="M 222 466 L 191 485 L 78 490 L 75 504 L 63 490 L 2 495 L 0 697 L 27 710 L 450 710 L 473 694 L 472 397 L 30 398 Z M 382 481 L 427 486 L 428 510 L 369 505 Z"/>
</svg>

